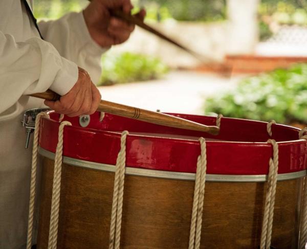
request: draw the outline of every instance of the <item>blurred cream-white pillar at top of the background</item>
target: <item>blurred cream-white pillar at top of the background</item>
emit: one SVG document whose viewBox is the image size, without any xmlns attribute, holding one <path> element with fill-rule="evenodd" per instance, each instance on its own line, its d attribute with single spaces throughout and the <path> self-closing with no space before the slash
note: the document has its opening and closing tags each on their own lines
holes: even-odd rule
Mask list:
<svg viewBox="0 0 307 249">
<path fill-rule="evenodd" d="M 242 55 L 254 52 L 258 42 L 258 4 L 259 0 L 227 0 L 227 54 Z"/>
</svg>

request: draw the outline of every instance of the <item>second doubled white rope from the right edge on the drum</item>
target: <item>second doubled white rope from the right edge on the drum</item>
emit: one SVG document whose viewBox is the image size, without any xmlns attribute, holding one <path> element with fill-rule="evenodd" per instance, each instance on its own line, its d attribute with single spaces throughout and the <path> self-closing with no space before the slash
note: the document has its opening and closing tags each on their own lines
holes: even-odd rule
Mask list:
<svg viewBox="0 0 307 249">
<path fill-rule="evenodd" d="M 275 140 L 268 140 L 273 145 L 273 160 L 270 158 L 270 168 L 268 175 L 268 187 L 266 193 L 264 218 L 262 221 L 262 231 L 260 240 L 260 249 L 269 249 L 272 238 L 274 204 L 278 174 L 278 144 Z"/>
</svg>

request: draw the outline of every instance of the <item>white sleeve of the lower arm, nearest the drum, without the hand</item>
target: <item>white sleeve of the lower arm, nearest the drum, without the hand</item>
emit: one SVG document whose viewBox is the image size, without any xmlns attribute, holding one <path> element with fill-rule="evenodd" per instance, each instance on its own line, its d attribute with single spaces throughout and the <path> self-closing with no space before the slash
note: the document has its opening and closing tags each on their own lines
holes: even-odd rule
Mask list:
<svg viewBox="0 0 307 249">
<path fill-rule="evenodd" d="M 78 79 L 77 65 L 38 37 L 16 42 L 12 35 L 0 31 L 0 58 L 0 113 L 22 95 L 48 88 L 64 95 Z"/>
</svg>

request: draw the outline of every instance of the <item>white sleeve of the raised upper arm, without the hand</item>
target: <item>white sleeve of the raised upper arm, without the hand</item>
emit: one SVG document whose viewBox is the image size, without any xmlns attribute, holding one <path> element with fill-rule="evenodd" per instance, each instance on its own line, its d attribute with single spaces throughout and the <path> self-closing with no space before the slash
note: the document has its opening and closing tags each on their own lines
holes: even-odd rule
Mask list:
<svg viewBox="0 0 307 249">
<path fill-rule="evenodd" d="M 101 75 L 101 48 L 87 30 L 83 13 L 71 12 L 60 19 L 38 22 L 43 39 L 51 42 L 61 56 L 89 72 L 98 83 Z"/>
</svg>

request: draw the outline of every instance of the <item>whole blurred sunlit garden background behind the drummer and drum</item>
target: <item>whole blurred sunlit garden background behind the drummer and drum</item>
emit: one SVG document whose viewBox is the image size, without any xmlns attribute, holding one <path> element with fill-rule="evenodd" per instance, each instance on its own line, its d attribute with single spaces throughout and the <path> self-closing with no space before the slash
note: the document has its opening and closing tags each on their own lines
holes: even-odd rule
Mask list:
<svg viewBox="0 0 307 249">
<path fill-rule="evenodd" d="M 141 28 L 101 58 L 105 100 L 162 112 L 307 126 L 307 1 L 133 0 L 145 22 L 209 63 Z M 38 19 L 85 0 L 36 0 Z"/>
</svg>

